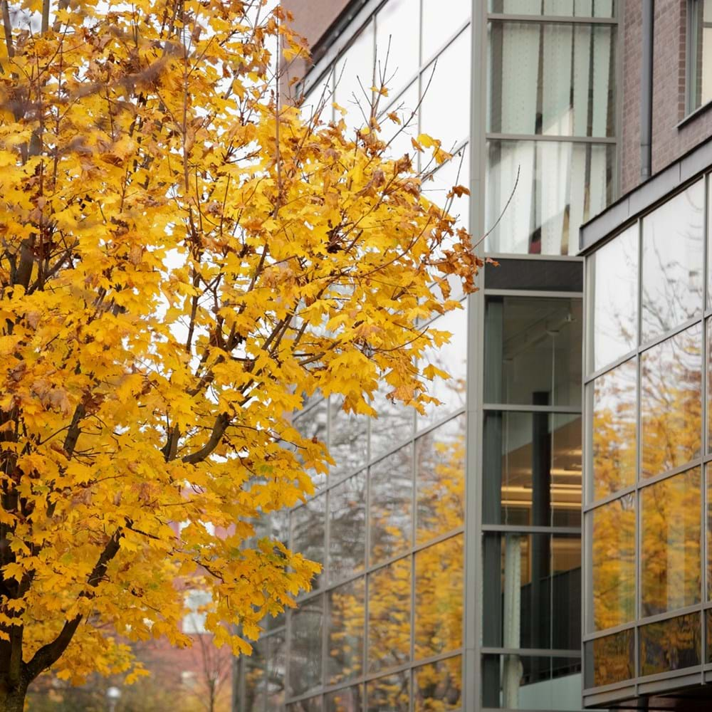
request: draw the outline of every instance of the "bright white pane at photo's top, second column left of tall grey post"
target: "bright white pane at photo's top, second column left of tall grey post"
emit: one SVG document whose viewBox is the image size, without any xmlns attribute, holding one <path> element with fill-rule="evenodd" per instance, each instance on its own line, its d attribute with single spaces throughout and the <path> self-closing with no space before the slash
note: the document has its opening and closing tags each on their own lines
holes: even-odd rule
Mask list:
<svg viewBox="0 0 712 712">
<path fill-rule="evenodd" d="M 376 15 L 376 82 L 387 79 L 392 92 L 417 74 L 419 0 L 389 0 Z M 387 59 L 386 59 L 387 58 Z"/>
</svg>

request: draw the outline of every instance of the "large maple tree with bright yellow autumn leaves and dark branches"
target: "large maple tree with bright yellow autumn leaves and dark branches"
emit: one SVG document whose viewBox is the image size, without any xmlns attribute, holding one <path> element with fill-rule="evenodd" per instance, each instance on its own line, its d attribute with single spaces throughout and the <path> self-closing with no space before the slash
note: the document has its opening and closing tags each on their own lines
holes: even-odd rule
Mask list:
<svg viewBox="0 0 712 712">
<path fill-rule="evenodd" d="M 305 49 L 261 5 L 1 2 L 4 710 L 50 666 L 130 669 L 122 640 L 189 644 L 187 577 L 248 653 L 318 569 L 245 545 L 328 468 L 291 414 L 320 391 L 373 415 L 379 382 L 422 408 L 444 375 L 419 320 L 481 267 L 420 192 L 449 156 L 421 135 L 421 170 L 387 158 L 382 84 L 357 132 L 329 97 L 284 103 Z"/>
</svg>

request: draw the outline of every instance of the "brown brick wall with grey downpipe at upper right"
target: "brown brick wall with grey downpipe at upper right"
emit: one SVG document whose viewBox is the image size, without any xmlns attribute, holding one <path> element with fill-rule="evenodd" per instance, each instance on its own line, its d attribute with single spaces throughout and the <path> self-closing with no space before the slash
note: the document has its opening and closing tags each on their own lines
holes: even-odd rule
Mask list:
<svg viewBox="0 0 712 712">
<path fill-rule="evenodd" d="M 642 3 L 622 6 L 623 99 L 621 194 L 640 182 L 640 68 L 642 61 Z M 704 139 L 712 136 L 712 109 L 684 126 L 686 0 L 657 0 L 653 53 L 653 147 L 655 174 Z"/>
</svg>

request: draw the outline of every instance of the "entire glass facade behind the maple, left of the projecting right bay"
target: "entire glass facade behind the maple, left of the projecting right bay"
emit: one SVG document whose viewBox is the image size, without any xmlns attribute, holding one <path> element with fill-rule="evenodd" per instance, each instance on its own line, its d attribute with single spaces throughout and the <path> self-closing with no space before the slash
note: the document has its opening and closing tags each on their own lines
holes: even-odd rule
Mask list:
<svg viewBox="0 0 712 712">
<path fill-rule="evenodd" d="M 327 120 L 362 125 L 375 63 L 377 80 L 388 77 L 387 155 L 408 152 L 424 168 L 411 139 L 441 139 L 454 157 L 423 182 L 424 196 L 473 235 L 491 231 L 478 251 L 512 277 L 488 271 L 489 286 L 481 273 L 468 298 L 454 285 L 462 308 L 429 324 L 451 334 L 424 355 L 451 375 L 429 389 L 439 407 L 414 414 L 383 391 L 377 419 L 345 414 L 335 397 L 295 414 L 335 466 L 263 534 L 323 570 L 295 609 L 263 623 L 255 656 L 240 663 L 238 709 L 574 712 L 583 263 L 570 254 L 578 226 L 614 197 L 616 3 L 364 8 L 337 38 L 333 64 L 307 78 L 306 104 L 326 90 Z M 472 13 L 486 22 L 473 26 Z M 475 115 L 473 87 L 483 98 Z M 386 119 L 393 112 L 400 125 Z M 454 184 L 473 201 L 449 198 Z"/>
</svg>

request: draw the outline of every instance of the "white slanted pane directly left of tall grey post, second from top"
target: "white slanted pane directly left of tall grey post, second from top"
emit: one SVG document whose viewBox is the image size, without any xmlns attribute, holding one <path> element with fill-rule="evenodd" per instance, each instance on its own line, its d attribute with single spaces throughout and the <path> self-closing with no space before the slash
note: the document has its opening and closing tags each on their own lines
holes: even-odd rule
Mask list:
<svg viewBox="0 0 712 712">
<path fill-rule="evenodd" d="M 434 0 L 424 0 L 425 4 Z M 452 23 L 450 5 L 468 0 L 452 0 L 448 11 L 438 9 L 441 21 L 446 21 L 449 33 Z M 429 33 L 429 32 L 428 32 Z M 431 80 L 432 77 L 432 80 Z M 436 63 L 423 70 L 420 78 L 422 103 L 420 105 L 420 130 L 442 142 L 450 151 L 470 134 L 470 32 L 460 33 L 437 58 Z"/>
</svg>

